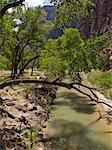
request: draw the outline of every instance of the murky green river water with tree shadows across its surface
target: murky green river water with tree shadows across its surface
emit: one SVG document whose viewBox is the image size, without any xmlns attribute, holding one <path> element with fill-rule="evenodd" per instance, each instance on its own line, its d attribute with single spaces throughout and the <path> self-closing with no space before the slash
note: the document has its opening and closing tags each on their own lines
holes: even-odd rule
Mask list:
<svg viewBox="0 0 112 150">
<path fill-rule="evenodd" d="M 59 88 L 47 128 L 46 150 L 112 150 L 112 130 L 96 105 Z"/>
</svg>

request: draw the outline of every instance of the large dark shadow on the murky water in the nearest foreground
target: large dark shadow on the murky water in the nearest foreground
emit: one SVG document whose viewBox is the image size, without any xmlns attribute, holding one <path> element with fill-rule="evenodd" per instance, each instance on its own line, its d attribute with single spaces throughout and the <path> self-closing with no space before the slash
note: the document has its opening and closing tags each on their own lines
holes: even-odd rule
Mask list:
<svg viewBox="0 0 112 150">
<path fill-rule="evenodd" d="M 91 131 L 79 122 L 57 119 L 52 122 L 55 136 L 45 140 L 47 150 L 110 150 L 91 136 Z"/>
</svg>

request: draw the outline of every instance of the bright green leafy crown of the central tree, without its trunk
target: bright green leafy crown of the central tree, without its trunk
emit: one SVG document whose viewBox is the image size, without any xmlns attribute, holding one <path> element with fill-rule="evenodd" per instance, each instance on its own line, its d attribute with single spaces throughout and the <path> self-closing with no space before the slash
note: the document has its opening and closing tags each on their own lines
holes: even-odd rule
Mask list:
<svg viewBox="0 0 112 150">
<path fill-rule="evenodd" d="M 84 41 L 78 29 L 65 29 L 57 40 L 50 39 L 41 51 L 40 65 L 55 76 L 78 76 L 99 66 L 99 51 L 106 44 L 106 35 Z"/>
</svg>

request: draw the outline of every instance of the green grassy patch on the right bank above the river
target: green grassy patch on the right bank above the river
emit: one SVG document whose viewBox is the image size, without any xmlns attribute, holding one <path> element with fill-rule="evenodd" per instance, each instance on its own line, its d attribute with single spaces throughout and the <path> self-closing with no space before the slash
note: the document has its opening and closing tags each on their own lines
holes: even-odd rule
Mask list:
<svg viewBox="0 0 112 150">
<path fill-rule="evenodd" d="M 92 70 L 87 74 L 87 79 L 97 86 L 106 97 L 112 99 L 112 72 Z"/>
</svg>

